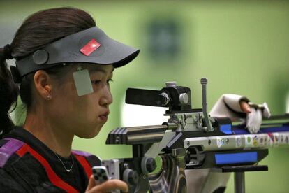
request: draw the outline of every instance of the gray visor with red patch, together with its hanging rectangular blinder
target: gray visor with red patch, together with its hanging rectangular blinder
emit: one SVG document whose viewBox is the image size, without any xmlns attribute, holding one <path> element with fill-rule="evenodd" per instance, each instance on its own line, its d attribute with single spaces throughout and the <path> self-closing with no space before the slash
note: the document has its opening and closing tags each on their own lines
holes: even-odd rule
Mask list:
<svg viewBox="0 0 289 193">
<path fill-rule="evenodd" d="M 139 52 L 138 49 L 114 41 L 98 27 L 91 27 L 54 41 L 17 60 L 16 67 L 10 66 L 10 70 L 15 83 L 21 83 L 28 73 L 66 63 L 112 64 L 117 68 L 131 62 Z M 93 92 L 87 69 L 77 69 L 73 79 L 79 96 Z"/>
</svg>

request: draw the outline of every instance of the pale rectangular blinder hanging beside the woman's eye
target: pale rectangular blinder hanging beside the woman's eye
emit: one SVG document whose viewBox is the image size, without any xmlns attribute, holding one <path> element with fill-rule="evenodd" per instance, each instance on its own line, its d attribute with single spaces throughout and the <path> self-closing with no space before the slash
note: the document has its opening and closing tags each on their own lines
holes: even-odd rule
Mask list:
<svg viewBox="0 0 289 193">
<path fill-rule="evenodd" d="M 94 92 L 94 89 L 91 85 L 89 71 L 87 69 L 75 71 L 73 73 L 73 80 L 78 96 L 83 96 L 85 94 L 91 94 Z"/>
</svg>

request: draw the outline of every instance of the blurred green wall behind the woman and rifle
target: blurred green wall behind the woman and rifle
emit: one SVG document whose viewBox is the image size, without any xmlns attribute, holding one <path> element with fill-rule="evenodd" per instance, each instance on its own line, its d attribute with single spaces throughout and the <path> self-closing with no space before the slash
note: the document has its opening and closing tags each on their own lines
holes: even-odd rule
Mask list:
<svg viewBox="0 0 289 193">
<path fill-rule="evenodd" d="M 126 88 L 161 89 L 169 80 L 191 87 L 194 108 L 201 106 L 200 78 L 207 77 L 209 108 L 221 94 L 235 93 L 256 103 L 266 101 L 272 114 L 285 113 L 288 1 L 1 1 L 0 44 L 10 43 L 24 17 L 57 6 L 87 10 L 109 36 L 141 49 L 134 62 L 114 73 L 108 124 L 96 138 L 75 138 L 73 148 L 104 159 L 130 156 L 130 147 L 104 145 L 111 129 L 124 126 L 120 106 Z M 180 29 L 179 55 L 153 59 L 147 49 L 147 24 L 168 18 Z M 288 149 L 269 150 L 260 163 L 267 164 L 269 171 L 246 173 L 246 191 L 288 192 L 288 162 Z M 226 192 L 233 192 L 233 178 Z"/>
</svg>

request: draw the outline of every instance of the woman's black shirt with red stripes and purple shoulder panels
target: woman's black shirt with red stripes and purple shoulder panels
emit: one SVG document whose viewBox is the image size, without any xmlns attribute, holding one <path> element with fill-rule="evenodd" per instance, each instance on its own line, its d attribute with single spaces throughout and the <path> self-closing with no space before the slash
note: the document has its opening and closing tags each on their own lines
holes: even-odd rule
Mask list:
<svg viewBox="0 0 289 193">
<path fill-rule="evenodd" d="M 73 167 L 70 172 L 73 159 Z M 85 192 L 91 166 L 101 160 L 87 152 L 59 157 L 29 131 L 15 127 L 0 140 L 0 192 Z"/>
</svg>

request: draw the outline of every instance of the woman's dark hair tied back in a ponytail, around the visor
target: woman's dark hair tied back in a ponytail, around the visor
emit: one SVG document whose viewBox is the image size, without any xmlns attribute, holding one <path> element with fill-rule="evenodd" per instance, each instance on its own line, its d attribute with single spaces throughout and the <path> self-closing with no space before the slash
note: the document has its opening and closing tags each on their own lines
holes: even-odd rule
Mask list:
<svg viewBox="0 0 289 193">
<path fill-rule="evenodd" d="M 34 73 L 22 78 L 19 90 L 11 78 L 6 59 L 11 56 L 16 60 L 22 59 L 49 43 L 94 26 L 96 23 L 91 15 L 78 8 L 64 7 L 40 10 L 27 17 L 17 30 L 9 46 L 10 53 L 7 53 L 7 49 L 0 48 L 0 138 L 1 135 L 8 133 L 14 127 L 8 113 L 13 103 L 17 101 L 18 94 L 20 93 L 27 110 L 33 103 Z M 45 71 L 60 77 L 64 71 L 62 69 L 66 67 L 56 68 L 45 69 Z"/>
</svg>

